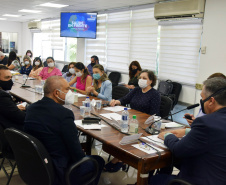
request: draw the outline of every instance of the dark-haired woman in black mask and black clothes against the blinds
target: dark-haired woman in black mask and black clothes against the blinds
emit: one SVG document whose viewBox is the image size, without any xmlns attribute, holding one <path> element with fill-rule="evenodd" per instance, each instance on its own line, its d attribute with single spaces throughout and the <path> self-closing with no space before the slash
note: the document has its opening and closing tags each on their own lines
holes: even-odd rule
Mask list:
<svg viewBox="0 0 226 185">
<path fill-rule="evenodd" d="M 138 77 L 141 71 L 142 69 L 139 62 L 131 62 L 129 65 L 129 83 L 128 85 L 126 84 L 125 87 L 128 89 L 134 89 L 135 87 L 138 87 Z"/>
</svg>

